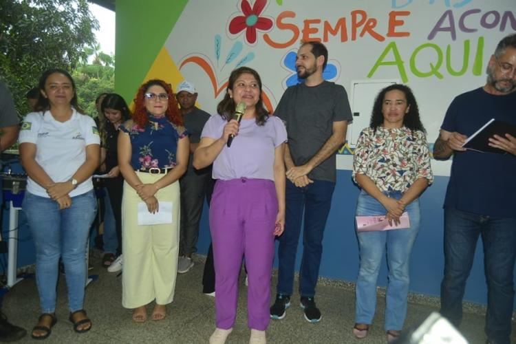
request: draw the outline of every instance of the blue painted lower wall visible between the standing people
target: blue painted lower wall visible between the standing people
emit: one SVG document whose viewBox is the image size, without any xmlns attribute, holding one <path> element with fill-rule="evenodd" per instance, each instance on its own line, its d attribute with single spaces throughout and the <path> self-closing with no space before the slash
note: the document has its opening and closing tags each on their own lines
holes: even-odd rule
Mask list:
<svg viewBox="0 0 516 344">
<path fill-rule="evenodd" d="M 444 268 L 442 252 L 444 193 L 448 177 L 436 177 L 433 184 L 421 197 L 422 225 L 413 248 L 411 260 L 411 292 L 439 296 L 440 283 Z M 354 211 L 359 190 L 351 181 L 351 171 L 337 171 L 337 184 L 332 200 L 332 210 L 328 217 L 323 243 L 323 259 L 320 275 L 333 279 L 356 281 L 358 274 L 358 244 L 354 232 Z M 206 254 L 210 244 L 208 228 L 208 208 L 202 213 L 200 239 L 197 245 Z M 301 264 L 300 238 L 296 269 Z M 487 303 L 487 287 L 484 277 L 484 255 L 479 240 L 475 261 L 466 284 L 464 300 Z M 277 257 L 275 258 L 277 268 Z M 516 284 L 516 268 L 515 268 Z M 378 277 L 378 286 L 387 285 L 387 266 L 385 261 Z M 273 290 L 274 291 L 274 290 Z M 516 302 L 513 306 L 516 311 Z"/>
</svg>

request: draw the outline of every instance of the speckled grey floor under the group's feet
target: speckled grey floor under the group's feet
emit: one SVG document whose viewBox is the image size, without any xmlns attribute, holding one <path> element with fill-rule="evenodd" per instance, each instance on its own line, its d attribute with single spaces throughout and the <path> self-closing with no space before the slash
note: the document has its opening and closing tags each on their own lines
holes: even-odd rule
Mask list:
<svg viewBox="0 0 516 344">
<path fill-rule="evenodd" d="M 98 278 L 86 290 L 85 309 L 93 321 L 92 330 L 76 334 L 67 320 L 67 297 L 64 278 L 58 286 L 58 323 L 45 343 L 208 343 L 215 328 L 214 299 L 202 294 L 202 257 L 195 258 L 195 266 L 184 275 L 178 275 L 175 300 L 169 305 L 169 315 L 163 321 L 147 321 L 143 324 L 131 321 L 131 310 L 121 305 L 121 277 L 100 267 L 98 259 L 91 259 L 94 266 L 90 275 Z M 246 325 L 246 286 L 241 277 L 237 322 L 227 343 L 248 343 Z M 275 278 L 273 278 L 275 284 Z M 338 284 L 338 283 L 337 283 Z M 273 294 L 272 297 L 275 295 Z M 354 324 L 354 292 L 332 283 L 319 285 L 316 303 L 323 317 L 320 323 L 305 321 L 299 308 L 298 295 L 292 297 L 292 306 L 285 319 L 271 321 L 267 331 L 268 343 L 386 343 L 383 330 L 383 297 L 378 297 L 378 309 L 374 325 L 367 338 L 358 340 L 351 332 Z M 151 306 L 152 307 L 152 306 Z M 149 309 L 149 315 L 151 312 Z M 429 305 L 409 304 L 405 328 L 416 327 L 437 310 Z M 4 297 L 3 311 L 12 323 L 32 329 L 39 316 L 39 300 L 34 279 L 25 279 Z M 471 344 L 485 343 L 484 316 L 465 314 L 462 332 Z M 516 325 L 513 323 L 513 343 L 516 343 Z M 34 343 L 28 336 L 21 343 Z"/>
</svg>

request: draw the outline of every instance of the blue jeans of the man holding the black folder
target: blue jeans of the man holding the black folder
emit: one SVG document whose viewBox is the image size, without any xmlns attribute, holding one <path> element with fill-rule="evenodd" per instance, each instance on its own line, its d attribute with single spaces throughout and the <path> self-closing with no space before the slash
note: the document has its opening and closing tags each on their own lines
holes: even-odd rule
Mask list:
<svg viewBox="0 0 516 344">
<path fill-rule="evenodd" d="M 480 235 L 484 244 L 488 290 L 485 331 L 491 341 L 508 344 L 514 303 L 516 218 L 444 208 L 444 278 L 440 312 L 455 326 L 460 325 L 464 287 Z"/>
</svg>

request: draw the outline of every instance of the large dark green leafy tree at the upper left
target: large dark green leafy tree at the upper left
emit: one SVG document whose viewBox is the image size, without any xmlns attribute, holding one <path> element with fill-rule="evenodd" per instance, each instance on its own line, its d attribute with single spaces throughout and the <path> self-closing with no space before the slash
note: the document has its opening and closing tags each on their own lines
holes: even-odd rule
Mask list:
<svg viewBox="0 0 516 344">
<path fill-rule="evenodd" d="M 98 21 L 86 0 L 1 0 L 0 77 L 10 87 L 19 114 L 29 109 L 25 93 L 45 69 L 72 71 L 95 45 Z"/>
</svg>

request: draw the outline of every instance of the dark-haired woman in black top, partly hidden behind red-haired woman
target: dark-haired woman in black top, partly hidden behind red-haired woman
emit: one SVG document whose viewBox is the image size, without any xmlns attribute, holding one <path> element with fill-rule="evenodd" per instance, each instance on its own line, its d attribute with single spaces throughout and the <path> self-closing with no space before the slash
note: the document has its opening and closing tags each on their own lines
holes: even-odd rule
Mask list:
<svg viewBox="0 0 516 344">
<path fill-rule="evenodd" d="M 105 204 L 106 207 L 111 207 L 111 212 L 106 211 L 105 213 L 103 261 L 109 272 L 115 272 L 122 266 L 122 189 L 124 184 L 124 178 L 118 167 L 118 131 L 122 122 L 131 118 L 131 113 L 124 98 L 115 93 L 105 95 L 100 104 L 100 112 L 104 114 L 100 120 L 105 121 L 101 126 L 104 130 L 100 131 L 100 142 L 102 142 L 100 154 L 105 157 L 104 165 L 107 174 L 107 178 L 104 178 L 103 182 L 109 197 L 109 201 Z M 107 225 L 108 216 L 111 216 L 111 213 L 115 220 L 115 226 Z M 114 261 L 116 256 L 118 258 Z M 107 264 L 108 262 L 109 264 Z"/>
</svg>

